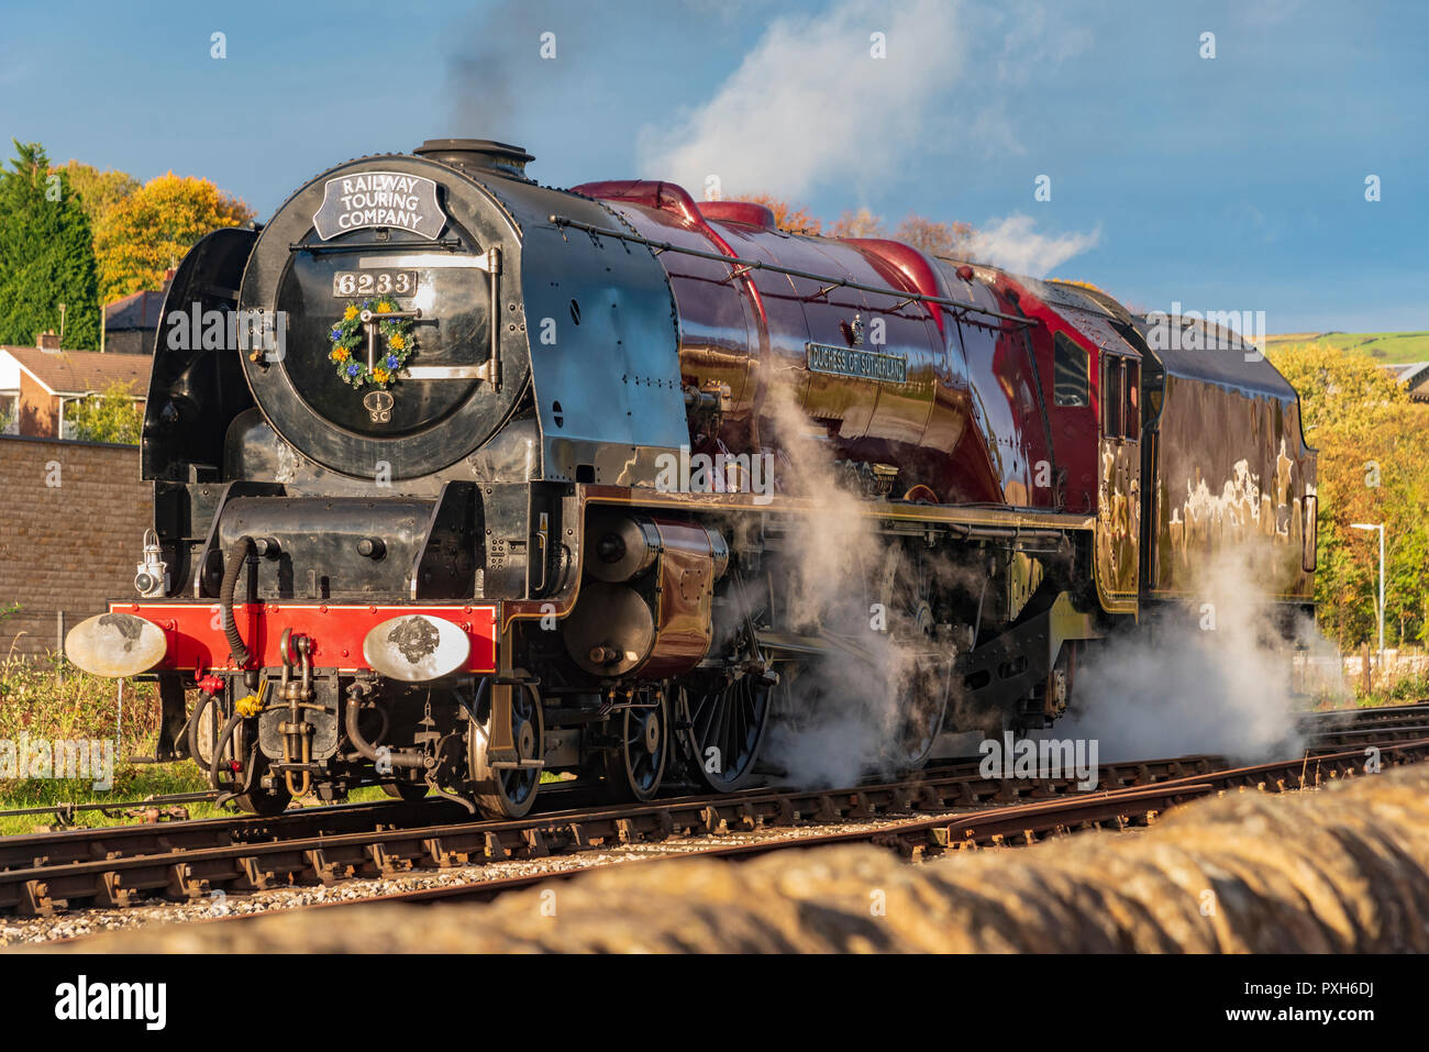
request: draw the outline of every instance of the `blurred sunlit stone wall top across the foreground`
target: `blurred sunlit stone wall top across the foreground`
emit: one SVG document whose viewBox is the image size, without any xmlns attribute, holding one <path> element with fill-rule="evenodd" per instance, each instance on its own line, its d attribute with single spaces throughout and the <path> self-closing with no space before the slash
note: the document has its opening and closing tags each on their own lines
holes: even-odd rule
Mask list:
<svg viewBox="0 0 1429 1052">
<path fill-rule="evenodd" d="M 876 848 L 612 866 L 482 906 L 116 932 L 81 952 L 1429 951 L 1429 765 L 1186 805 L 1145 832 L 909 865 Z"/>
</svg>

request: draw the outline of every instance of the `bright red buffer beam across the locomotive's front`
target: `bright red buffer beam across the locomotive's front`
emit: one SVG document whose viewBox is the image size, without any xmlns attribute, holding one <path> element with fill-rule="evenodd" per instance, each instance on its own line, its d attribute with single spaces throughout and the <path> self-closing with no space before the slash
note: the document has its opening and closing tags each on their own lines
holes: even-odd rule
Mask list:
<svg viewBox="0 0 1429 1052">
<path fill-rule="evenodd" d="M 169 650 L 159 668 L 206 672 L 236 669 L 229 659 L 217 603 L 110 603 L 111 613 L 133 613 L 164 632 Z M 259 656 L 253 668 L 283 663 L 279 639 L 283 629 L 313 640 L 313 665 L 326 669 L 367 669 L 362 643 L 367 632 L 389 617 L 424 613 L 444 617 L 472 639 L 467 672 L 496 670 L 496 603 L 376 605 L 349 603 L 234 603 L 233 619 L 249 650 Z"/>
</svg>

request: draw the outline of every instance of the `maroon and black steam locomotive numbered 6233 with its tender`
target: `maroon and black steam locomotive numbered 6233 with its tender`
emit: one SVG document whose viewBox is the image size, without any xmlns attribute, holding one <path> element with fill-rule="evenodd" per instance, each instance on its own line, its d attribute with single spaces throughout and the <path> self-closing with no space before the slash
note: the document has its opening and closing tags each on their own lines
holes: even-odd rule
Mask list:
<svg viewBox="0 0 1429 1052">
<path fill-rule="evenodd" d="M 1055 719 L 1232 540 L 1309 603 L 1315 456 L 1232 334 L 532 160 L 340 164 L 171 282 L 137 595 L 66 650 L 156 679 L 156 756 L 240 808 L 736 790 L 833 703 L 820 668 L 882 683 L 869 762 L 910 770 Z M 810 606 L 835 490 L 856 569 Z"/>
</svg>

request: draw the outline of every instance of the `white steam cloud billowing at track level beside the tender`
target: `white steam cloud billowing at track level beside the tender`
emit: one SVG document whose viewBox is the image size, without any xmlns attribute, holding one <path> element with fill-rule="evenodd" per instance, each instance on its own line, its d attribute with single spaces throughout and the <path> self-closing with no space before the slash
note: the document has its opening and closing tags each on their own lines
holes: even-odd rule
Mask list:
<svg viewBox="0 0 1429 1052">
<path fill-rule="evenodd" d="M 1222 550 L 1187 610 L 1090 649 L 1067 716 L 1047 733 L 1099 739 L 1103 762 L 1210 753 L 1259 763 L 1299 752 L 1290 646 L 1269 597 L 1272 557 L 1255 539 Z M 1312 653 L 1333 652 L 1309 619 L 1292 632 Z"/>
</svg>

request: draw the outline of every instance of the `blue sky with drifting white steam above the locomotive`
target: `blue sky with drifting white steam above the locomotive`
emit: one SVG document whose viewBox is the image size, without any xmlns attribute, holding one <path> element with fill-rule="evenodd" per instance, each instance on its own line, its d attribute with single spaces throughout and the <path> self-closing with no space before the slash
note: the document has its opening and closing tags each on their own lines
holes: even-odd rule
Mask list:
<svg viewBox="0 0 1429 1052">
<path fill-rule="evenodd" d="M 6 23 L 7 139 L 206 176 L 262 219 L 337 162 L 476 136 L 556 186 L 717 176 L 830 219 L 967 220 L 999 262 L 1143 309 L 1429 329 L 1423 3 L 56 0 Z"/>
</svg>

